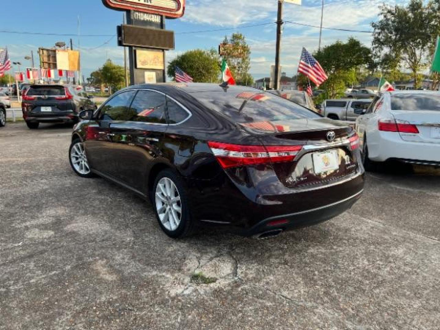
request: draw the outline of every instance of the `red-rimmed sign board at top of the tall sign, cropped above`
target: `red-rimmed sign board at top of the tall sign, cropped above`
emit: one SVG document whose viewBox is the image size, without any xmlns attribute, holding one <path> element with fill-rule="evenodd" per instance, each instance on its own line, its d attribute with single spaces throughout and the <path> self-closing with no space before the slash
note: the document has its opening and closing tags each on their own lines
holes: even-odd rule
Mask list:
<svg viewBox="0 0 440 330">
<path fill-rule="evenodd" d="M 185 0 L 103 0 L 103 4 L 115 10 L 136 10 L 148 14 L 179 18 L 185 11 Z"/>
</svg>

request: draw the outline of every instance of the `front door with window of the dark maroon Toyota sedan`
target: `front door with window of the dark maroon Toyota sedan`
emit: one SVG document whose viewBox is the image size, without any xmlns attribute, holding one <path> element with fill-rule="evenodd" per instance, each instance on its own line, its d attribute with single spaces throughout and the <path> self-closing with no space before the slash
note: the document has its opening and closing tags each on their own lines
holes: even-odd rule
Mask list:
<svg viewBox="0 0 440 330">
<path fill-rule="evenodd" d="M 88 127 L 85 149 L 92 169 L 115 177 L 117 174 L 117 148 L 111 124 L 124 123 L 128 116 L 135 90 L 114 95 L 101 106 L 97 119 Z"/>
</svg>

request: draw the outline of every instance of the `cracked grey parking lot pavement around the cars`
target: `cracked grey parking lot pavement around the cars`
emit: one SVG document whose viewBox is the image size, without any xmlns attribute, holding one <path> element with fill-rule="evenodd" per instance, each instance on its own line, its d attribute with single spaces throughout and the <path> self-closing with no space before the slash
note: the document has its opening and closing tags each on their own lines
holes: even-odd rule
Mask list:
<svg viewBox="0 0 440 330">
<path fill-rule="evenodd" d="M 0 128 L 0 329 L 440 328 L 439 170 L 369 173 L 350 211 L 276 238 L 172 240 L 40 127 Z"/>
</svg>

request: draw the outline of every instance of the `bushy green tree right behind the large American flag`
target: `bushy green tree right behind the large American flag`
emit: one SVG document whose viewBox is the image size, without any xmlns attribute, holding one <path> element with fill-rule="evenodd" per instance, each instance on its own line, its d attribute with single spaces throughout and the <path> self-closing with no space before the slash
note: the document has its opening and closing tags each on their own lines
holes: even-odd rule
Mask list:
<svg viewBox="0 0 440 330">
<path fill-rule="evenodd" d="M 325 95 L 326 98 L 342 96 L 346 86 L 357 82 L 360 68 L 374 66 L 370 48 L 352 37 L 346 43 L 337 41 L 328 45 L 317 51 L 314 56 L 329 77 L 321 87 L 325 91 L 323 97 Z"/>
</svg>

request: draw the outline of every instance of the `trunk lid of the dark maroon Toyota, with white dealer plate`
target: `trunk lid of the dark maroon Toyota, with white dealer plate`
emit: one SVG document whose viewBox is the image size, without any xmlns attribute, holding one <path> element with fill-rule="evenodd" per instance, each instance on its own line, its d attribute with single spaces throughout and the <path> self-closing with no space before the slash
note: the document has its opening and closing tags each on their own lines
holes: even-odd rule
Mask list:
<svg viewBox="0 0 440 330">
<path fill-rule="evenodd" d="M 357 170 L 352 128 L 325 118 L 240 124 L 252 131 L 275 156 L 289 147 L 301 146 L 291 161 L 271 161 L 286 187 L 325 185 Z M 350 141 L 350 139 L 352 139 Z M 284 148 L 284 149 L 283 149 Z M 276 158 L 272 158 L 276 159 Z"/>
</svg>

